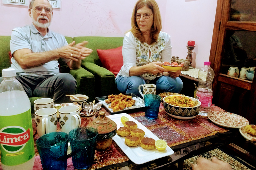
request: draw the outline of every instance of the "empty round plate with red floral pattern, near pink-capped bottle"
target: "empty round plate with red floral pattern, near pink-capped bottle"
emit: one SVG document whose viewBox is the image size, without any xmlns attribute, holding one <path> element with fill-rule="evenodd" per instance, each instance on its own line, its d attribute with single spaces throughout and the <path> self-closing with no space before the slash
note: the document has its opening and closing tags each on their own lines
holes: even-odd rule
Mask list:
<svg viewBox="0 0 256 170">
<path fill-rule="evenodd" d="M 241 128 L 249 125 L 249 121 L 242 116 L 222 111 L 211 111 L 208 118 L 215 124 L 226 128 Z"/>
</svg>

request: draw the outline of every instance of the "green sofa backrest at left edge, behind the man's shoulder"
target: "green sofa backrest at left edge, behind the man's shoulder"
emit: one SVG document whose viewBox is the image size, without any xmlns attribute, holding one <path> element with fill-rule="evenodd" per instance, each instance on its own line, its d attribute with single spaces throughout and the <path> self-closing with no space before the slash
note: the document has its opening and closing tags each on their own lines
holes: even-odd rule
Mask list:
<svg viewBox="0 0 256 170">
<path fill-rule="evenodd" d="M 11 36 L 0 36 L 0 77 L 2 77 L 2 69 L 9 68 L 11 66 L 8 54 L 10 51 L 10 40 Z"/>
</svg>

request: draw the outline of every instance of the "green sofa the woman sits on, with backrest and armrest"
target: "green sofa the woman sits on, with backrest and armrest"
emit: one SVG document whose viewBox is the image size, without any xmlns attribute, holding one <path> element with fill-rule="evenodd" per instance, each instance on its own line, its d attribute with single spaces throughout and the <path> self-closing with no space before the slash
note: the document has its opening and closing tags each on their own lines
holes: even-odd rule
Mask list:
<svg viewBox="0 0 256 170">
<path fill-rule="evenodd" d="M 74 37 L 76 43 L 88 41 L 87 48 L 93 52 L 83 59 L 81 66 L 91 72 L 95 78 L 95 97 L 117 94 L 115 75 L 102 67 L 97 49 L 111 49 L 123 45 L 123 37 Z"/>
</svg>

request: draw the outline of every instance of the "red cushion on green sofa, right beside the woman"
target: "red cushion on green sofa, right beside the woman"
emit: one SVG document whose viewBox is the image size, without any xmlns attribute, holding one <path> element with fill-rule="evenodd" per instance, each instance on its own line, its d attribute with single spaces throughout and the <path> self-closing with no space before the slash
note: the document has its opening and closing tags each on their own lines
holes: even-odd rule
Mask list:
<svg viewBox="0 0 256 170">
<path fill-rule="evenodd" d="M 115 76 L 124 64 L 122 46 L 113 49 L 97 49 L 102 66 L 111 71 Z"/>
</svg>

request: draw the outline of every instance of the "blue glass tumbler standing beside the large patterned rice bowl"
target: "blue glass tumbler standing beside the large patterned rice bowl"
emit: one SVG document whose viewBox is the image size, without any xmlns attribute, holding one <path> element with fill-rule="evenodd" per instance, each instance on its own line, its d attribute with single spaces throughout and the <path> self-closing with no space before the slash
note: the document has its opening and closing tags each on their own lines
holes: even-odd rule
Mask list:
<svg viewBox="0 0 256 170">
<path fill-rule="evenodd" d="M 156 119 L 158 117 L 159 106 L 161 103 L 161 97 L 155 94 L 145 94 L 145 116 L 148 119 Z"/>
</svg>

